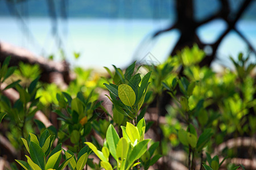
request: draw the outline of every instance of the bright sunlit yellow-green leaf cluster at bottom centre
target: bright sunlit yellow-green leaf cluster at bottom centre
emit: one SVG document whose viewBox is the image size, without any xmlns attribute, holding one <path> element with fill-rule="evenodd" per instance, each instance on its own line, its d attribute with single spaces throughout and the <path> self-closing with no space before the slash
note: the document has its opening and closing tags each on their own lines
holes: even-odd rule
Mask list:
<svg viewBox="0 0 256 170">
<path fill-rule="evenodd" d="M 147 151 L 147 143 L 150 139 L 144 139 L 144 133 L 146 128 L 146 122 L 142 118 L 137 126 L 127 122 L 126 127 L 122 128 L 122 138 L 119 138 L 117 131 L 114 129 L 113 125 L 109 125 L 106 131 L 106 142 L 102 147 L 102 150 L 97 150 L 97 147 L 91 142 L 85 142 L 93 152 L 101 159 L 101 166 L 106 170 L 110 169 L 131 169 L 140 162 L 134 163 L 136 160 L 141 158 L 141 156 Z M 151 147 L 152 148 L 152 147 Z M 155 148 L 154 148 L 155 149 Z M 151 152 L 154 152 L 151 149 Z M 109 163 L 109 155 L 112 155 L 116 161 L 116 165 L 113 168 Z M 151 164 L 154 164 L 160 155 L 154 156 L 151 160 Z"/>
</svg>

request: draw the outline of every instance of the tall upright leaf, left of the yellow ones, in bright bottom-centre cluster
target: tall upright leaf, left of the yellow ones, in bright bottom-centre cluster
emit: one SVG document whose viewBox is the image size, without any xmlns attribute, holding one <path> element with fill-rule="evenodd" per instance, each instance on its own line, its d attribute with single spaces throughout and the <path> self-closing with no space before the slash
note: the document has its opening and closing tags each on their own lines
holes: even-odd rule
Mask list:
<svg viewBox="0 0 256 170">
<path fill-rule="evenodd" d="M 110 124 L 108 130 L 106 131 L 106 142 L 108 143 L 110 154 L 115 160 L 117 160 L 116 147 L 119 139 L 120 138 L 117 134 L 117 131 L 115 131 L 114 126 Z"/>
</svg>

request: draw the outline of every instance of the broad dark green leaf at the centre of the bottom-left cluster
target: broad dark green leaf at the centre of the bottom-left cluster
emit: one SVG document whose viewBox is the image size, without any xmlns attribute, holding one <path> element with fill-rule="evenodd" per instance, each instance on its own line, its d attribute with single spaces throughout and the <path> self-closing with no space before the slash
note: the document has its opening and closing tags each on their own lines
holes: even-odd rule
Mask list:
<svg viewBox="0 0 256 170">
<path fill-rule="evenodd" d="M 39 165 L 41 169 L 44 169 L 46 158 L 42 148 L 33 141 L 30 141 L 29 147 L 30 147 L 30 156 L 32 161 L 37 165 Z"/>
</svg>

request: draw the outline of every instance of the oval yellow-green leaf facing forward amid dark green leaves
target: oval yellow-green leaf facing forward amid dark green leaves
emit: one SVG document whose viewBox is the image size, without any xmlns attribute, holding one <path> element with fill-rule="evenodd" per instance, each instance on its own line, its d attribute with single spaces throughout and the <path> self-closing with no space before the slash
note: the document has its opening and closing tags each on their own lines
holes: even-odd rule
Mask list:
<svg viewBox="0 0 256 170">
<path fill-rule="evenodd" d="M 118 86 L 118 96 L 123 104 L 132 107 L 136 100 L 135 92 L 127 84 L 120 84 Z"/>
</svg>

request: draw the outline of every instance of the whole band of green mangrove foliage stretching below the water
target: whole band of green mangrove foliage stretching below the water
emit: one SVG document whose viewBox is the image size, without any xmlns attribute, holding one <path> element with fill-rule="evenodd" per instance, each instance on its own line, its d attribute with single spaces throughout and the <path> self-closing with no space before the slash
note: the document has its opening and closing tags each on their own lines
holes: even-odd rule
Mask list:
<svg viewBox="0 0 256 170">
<path fill-rule="evenodd" d="M 213 156 L 213 152 L 215 146 L 234 136 L 256 133 L 252 114 L 256 111 L 255 64 L 248 65 L 248 57 L 240 54 L 237 61 L 232 59 L 235 71 L 214 73 L 199 67 L 203 57 L 204 52 L 194 46 L 159 65 L 137 66 L 134 62 L 126 70 L 114 66 L 114 71 L 105 67 L 109 77 L 101 79 L 92 70 L 76 68 L 77 78 L 65 91 L 39 82 L 38 67 L 20 64 L 16 70 L 8 67 L 7 58 L 0 67 L 0 123 L 17 150 L 25 146 L 20 154 L 30 155 L 26 155 L 27 162 L 16 162 L 24 169 L 63 169 L 67 165 L 83 169 L 86 164 L 93 169 L 148 169 L 171 148 L 182 146 L 189 169 L 196 169 L 199 162 L 201 169 L 218 170 L 224 162 L 228 169 L 237 169 L 229 163 L 229 158 L 236 156 L 232 148 L 221 155 Z M 142 69 L 147 72 L 142 74 Z M 26 70 L 35 75 L 25 74 Z M 180 70 L 183 76 L 179 76 Z M 24 76 L 25 83 L 16 80 L 17 76 Z M 10 88 L 18 91 L 18 100 L 3 95 Z M 97 92 L 104 90 L 109 91 L 109 108 L 98 100 Z M 162 113 L 164 94 L 171 99 L 166 115 Z M 144 114 L 155 105 L 155 125 L 164 134 L 159 142 L 144 139 L 154 123 L 145 121 Z M 39 110 L 47 117 L 55 114 L 57 124 L 46 127 L 34 120 Z M 163 115 L 166 124 L 160 125 Z M 103 145 L 93 133 L 100 135 Z M 90 152 L 100 159 L 99 164 L 88 158 Z M 225 159 L 220 162 L 218 156 Z M 24 154 L 21 158 L 26 159 Z"/>
</svg>

